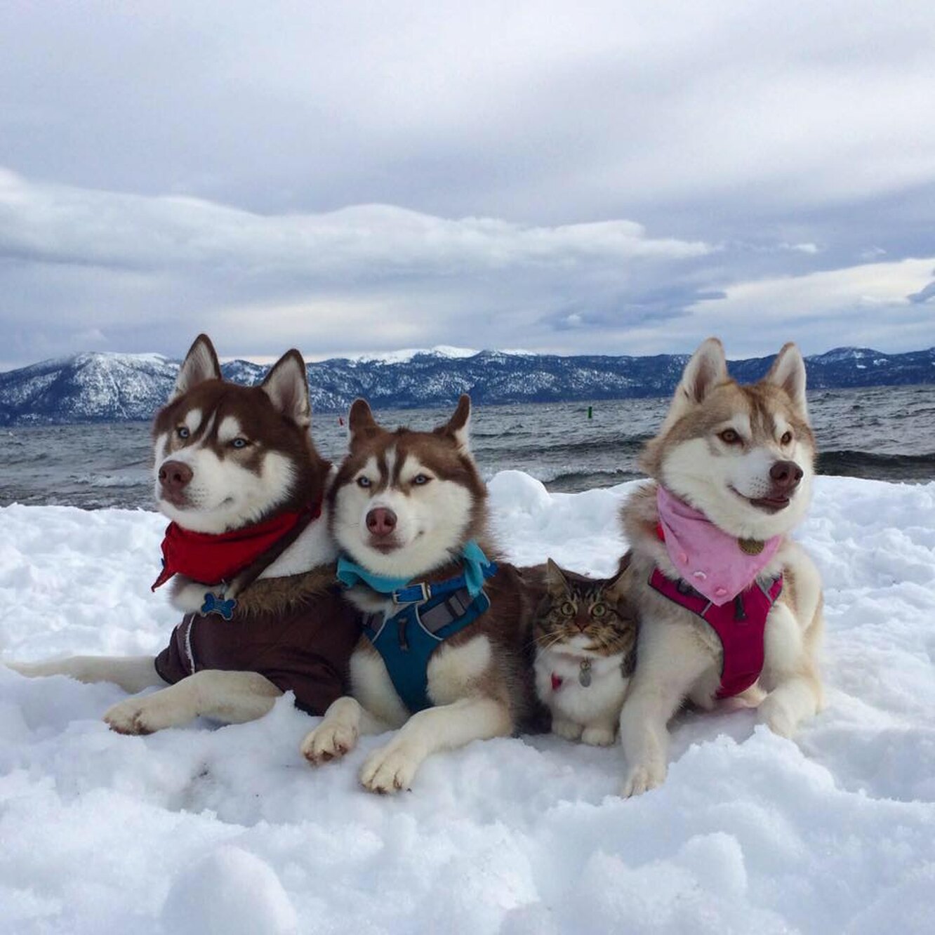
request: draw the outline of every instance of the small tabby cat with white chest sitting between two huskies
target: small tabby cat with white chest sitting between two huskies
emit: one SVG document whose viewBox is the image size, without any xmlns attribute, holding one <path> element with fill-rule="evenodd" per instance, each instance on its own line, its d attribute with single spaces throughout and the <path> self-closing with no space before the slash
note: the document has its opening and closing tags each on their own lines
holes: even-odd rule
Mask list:
<svg viewBox="0 0 935 935">
<path fill-rule="evenodd" d="M 554 733 L 607 745 L 636 668 L 637 620 L 623 594 L 626 562 L 609 579 L 564 571 L 550 558 L 533 624 L 536 693 Z"/>
</svg>

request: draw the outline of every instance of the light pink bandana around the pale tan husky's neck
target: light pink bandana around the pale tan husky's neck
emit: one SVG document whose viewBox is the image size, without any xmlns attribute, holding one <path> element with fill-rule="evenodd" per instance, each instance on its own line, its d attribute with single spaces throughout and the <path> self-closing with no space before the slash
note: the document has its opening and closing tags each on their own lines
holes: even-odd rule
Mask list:
<svg viewBox="0 0 935 935">
<path fill-rule="evenodd" d="M 655 502 L 662 530 L 660 539 L 666 543 L 672 564 L 684 582 L 716 607 L 733 600 L 755 582 L 782 540 L 773 536 L 762 543 L 758 554 L 749 554 L 741 548 L 741 541 L 749 543 L 748 550 L 758 548 L 761 543 L 741 540 L 719 529 L 704 513 L 670 494 L 662 484 L 656 488 Z"/>
</svg>

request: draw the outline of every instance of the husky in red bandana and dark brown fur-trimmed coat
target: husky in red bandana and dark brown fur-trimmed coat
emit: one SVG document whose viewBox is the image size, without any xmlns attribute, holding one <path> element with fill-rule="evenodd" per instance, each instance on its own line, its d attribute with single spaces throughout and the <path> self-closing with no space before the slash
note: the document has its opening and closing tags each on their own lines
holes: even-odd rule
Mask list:
<svg viewBox="0 0 935 935">
<path fill-rule="evenodd" d="M 172 521 L 164 569 L 184 614 L 156 657 L 73 656 L 8 664 L 24 675 L 112 682 L 114 730 L 148 734 L 203 714 L 265 714 L 283 691 L 320 714 L 343 691 L 360 632 L 334 586 L 336 550 L 321 517 L 330 465 L 309 437 L 309 388 L 297 351 L 256 387 L 224 381 L 209 338 L 194 341 L 153 424 L 156 504 Z M 156 556 L 153 556 L 154 565 Z"/>
</svg>

